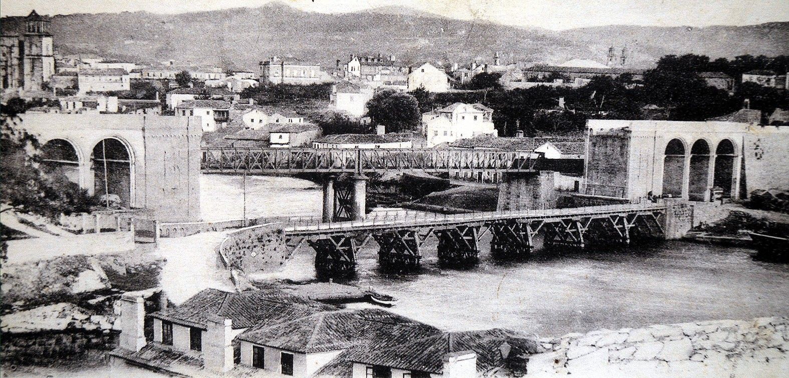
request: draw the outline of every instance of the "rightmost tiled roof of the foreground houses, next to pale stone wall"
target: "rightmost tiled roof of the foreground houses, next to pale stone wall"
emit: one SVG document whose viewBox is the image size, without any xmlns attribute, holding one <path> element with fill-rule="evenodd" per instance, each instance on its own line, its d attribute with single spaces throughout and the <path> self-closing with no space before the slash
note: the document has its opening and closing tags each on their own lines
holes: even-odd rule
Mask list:
<svg viewBox="0 0 789 378">
<path fill-rule="evenodd" d="M 500 352 L 503 343 L 510 345 L 510 356 L 537 353 L 537 343 L 506 329 L 447 332 L 382 350 L 353 350 L 346 361 L 368 365 L 418 370 L 440 374 L 443 357 L 448 353 L 473 350 L 477 353 L 477 371 L 484 372 L 504 365 Z"/>
</svg>

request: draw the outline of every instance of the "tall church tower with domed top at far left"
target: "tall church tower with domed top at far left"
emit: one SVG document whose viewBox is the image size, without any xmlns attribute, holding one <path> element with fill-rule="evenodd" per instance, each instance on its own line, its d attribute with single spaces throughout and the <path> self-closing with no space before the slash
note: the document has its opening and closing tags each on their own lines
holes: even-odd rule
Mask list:
<svg viewBox="0 0 789 378">
<path fill-rule="evenodd" d="M 54 49 L 50 34 L 50 17 L 33 10 L 25 19 L 24 90 L 40 91 L 54 75 Z"/>
</svg>

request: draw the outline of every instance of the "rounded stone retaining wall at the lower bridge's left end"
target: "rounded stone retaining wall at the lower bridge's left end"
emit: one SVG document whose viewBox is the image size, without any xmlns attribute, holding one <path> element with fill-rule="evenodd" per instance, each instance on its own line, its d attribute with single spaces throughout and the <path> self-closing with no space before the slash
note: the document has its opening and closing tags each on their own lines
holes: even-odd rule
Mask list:
<svg viewBox="0 0 789 378">
<path fill-rule="evenodd" d="M 231 232 L 219 244 L 219 256 L 228 269 L 245 274 L 274 272 L 290 258 L 280 224 L 262 224 Z"/>
</svg>

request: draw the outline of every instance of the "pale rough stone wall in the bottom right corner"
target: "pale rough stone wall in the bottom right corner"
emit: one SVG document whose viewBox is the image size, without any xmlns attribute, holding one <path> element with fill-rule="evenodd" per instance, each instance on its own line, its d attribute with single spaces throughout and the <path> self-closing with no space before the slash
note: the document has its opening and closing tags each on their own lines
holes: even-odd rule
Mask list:
<svg viewBox="0 0 789 378">
<path fill-rule="evenodd" d="M 779 377 L 789 369 L 789 319 L 701 321 L 571 333 L 543 340 L 527 377 Z"/>
</svg>

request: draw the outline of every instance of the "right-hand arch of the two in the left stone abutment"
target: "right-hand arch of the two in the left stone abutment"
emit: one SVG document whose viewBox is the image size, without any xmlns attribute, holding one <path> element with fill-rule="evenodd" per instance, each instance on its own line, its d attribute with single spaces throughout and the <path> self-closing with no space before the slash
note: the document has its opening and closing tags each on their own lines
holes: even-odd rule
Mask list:
<svg viewBox="0 0 789 378">
<path fill-rule="evenodd" d="M 134 206 L 134 148 L 118 135 L 95 143 L 91 171 L 96 195 L 118 195 L 122 206 Z"/>
</svg>

